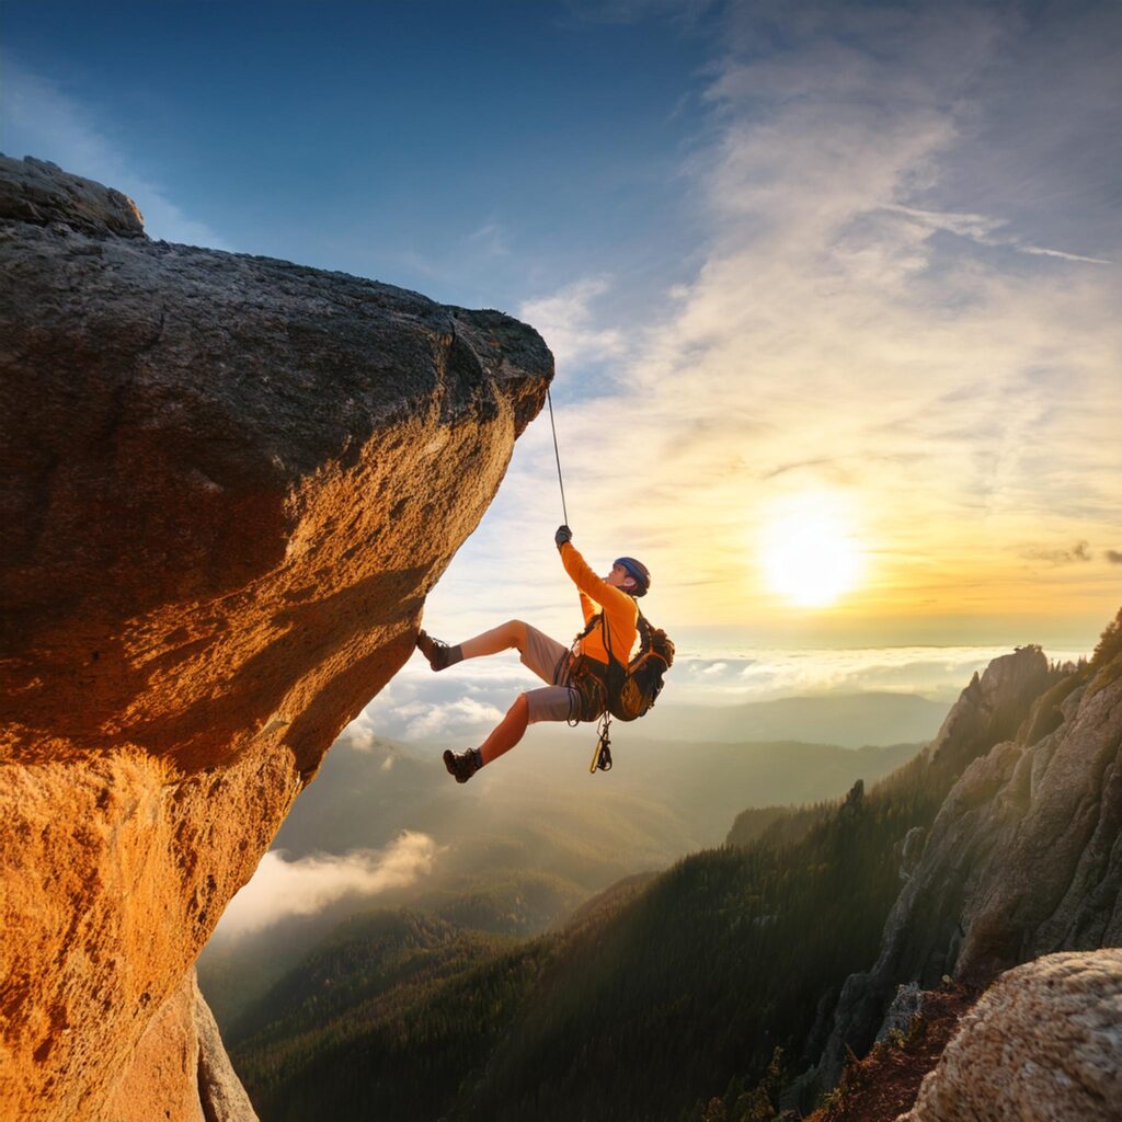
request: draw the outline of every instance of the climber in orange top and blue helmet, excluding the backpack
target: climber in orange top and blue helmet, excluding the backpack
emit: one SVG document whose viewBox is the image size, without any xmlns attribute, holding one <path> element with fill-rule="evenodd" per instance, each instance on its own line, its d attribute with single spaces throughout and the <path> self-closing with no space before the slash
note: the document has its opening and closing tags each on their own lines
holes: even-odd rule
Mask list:
<svg viewBox="0 0 1122 1122">
<path fill-rule="evenodd" d="M 554 541 L 561 563 L 580 592 L 585 617 L 585 629 L 571 650 L 521 619 L 507 620 L 456 646 L 423 631 L 417 634 L 417 649 L 433 670 L 516 649 L 523 665 L 548 683 L 519 693 L 478 748 L 444 753 L 444 766 L 458 783 L 467 783 L 480 767 L 509 752 L 528 725 L 541 720 L 596 720 L 606 708 L 609 662 L 627 665 L 637 634 L 635 599 L 645 596 L 651 587 L 646 565 L 634 558 L 617 558 L 611 571 L 600 578 L 572 544 L 568 526 L 558 527 Z"/>
</svg>

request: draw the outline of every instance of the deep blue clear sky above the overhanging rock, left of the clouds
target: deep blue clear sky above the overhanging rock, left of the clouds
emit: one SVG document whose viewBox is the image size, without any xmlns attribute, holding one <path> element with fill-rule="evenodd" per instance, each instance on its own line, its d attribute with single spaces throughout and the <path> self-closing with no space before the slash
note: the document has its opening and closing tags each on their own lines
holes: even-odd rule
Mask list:
<svg viewBox="0 0 1122 1122">
<path fill-rule="evenodd" d="M 500 307 L 690 251 L 702 25 L 555 3 L 2 11 L 9 62 L 231 248 Z M 19 155 L 50 139 L 4 132 Z"/>
</svg>

